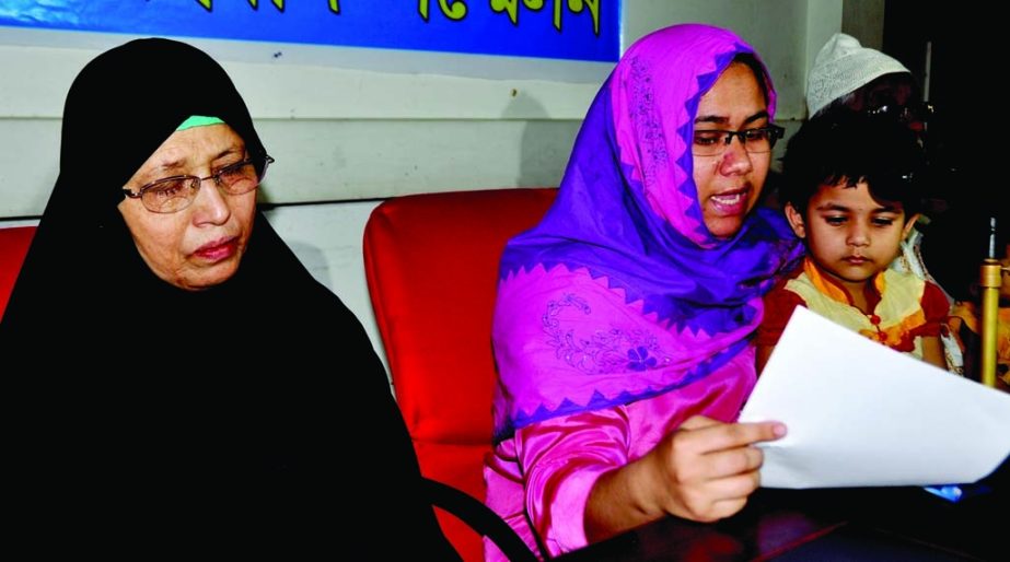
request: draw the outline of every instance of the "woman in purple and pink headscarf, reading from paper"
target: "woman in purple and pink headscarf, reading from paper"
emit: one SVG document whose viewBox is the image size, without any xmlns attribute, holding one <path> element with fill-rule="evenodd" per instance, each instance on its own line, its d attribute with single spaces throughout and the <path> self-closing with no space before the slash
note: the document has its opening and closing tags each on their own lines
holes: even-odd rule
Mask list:
<svg viewBox="0 0 1010 562">
<path fill-rule="evenodd" d="M 506 247 L 485 479 L 531 547 L 716 520 L 758 487 L 754 444 L 786 429 L 734 420 L 762 295 L 802 251 L 778 212 L 755 210 L 782 134 L 774 112 L 733 33 L 640 39 L 593 102 L 554 207 Z"/>
</svg>

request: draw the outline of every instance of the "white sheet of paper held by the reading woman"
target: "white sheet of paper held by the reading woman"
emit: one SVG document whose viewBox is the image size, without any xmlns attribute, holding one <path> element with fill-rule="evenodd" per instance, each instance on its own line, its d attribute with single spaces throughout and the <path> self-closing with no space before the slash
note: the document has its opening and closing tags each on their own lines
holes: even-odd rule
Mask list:
<svg viewBox="0 0 1010 562">
<path fill-rule="evenodd" d="M 778 420 L 762 485 L 974 482 L 1010 454 L 1010 395 L 797 307 L 740 421 Z"/>
</svg>

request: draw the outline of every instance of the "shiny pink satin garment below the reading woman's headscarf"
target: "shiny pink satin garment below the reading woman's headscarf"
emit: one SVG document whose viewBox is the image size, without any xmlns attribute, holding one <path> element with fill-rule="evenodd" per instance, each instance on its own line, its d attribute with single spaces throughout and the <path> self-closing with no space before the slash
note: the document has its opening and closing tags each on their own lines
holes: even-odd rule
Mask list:
<svg viewBox="0 0 1010 562">
<path fill-rule="evenodd" d="M 675 393 L 516 430 L 485 466 L 487 504 L 527 545 L 543 537 L 550 555 L 584 547 L 582 512 L 596 478 L 642 457 L 692 415 L 735 420 L 755 382 L 754 351 L 747 348 Z M 486 560 L 506 560 L 490 542 L 485 549 Z"/>
</svg>

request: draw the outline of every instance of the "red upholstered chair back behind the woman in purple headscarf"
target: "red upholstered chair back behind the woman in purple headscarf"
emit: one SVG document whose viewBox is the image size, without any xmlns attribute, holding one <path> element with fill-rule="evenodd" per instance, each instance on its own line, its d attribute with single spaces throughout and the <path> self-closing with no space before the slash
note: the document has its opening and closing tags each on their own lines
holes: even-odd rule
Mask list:
<svg viewBox="0 0 1010 562">
<path fill-rule="evenodd" d="M 393 198 L 364 230 L 368 286 L 397 403 L 421 472 L 485 499 L 491 450 L 491 313 L 506 242 L 530 229 L 556 189 L 497 189 Z M 439 513 L 464 560 L 480 537 Z"/>
</svg>

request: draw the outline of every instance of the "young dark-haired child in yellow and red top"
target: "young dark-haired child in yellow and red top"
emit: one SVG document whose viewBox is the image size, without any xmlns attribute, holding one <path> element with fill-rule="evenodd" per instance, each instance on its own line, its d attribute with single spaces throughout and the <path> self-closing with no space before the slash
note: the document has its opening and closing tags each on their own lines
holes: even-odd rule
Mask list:
<svg viewBox="0 0 1010 562">
<path fill-rule="evenodd" d="M 758 372 L 798 305 L 947 368 L 939 339 L 947 296 L 929 281 L 889 269 L 922 192 L 915 133 L 892 119 L 814 118 L 790 139 L 782 167 L 786 219 L 803 238 L 806 258 L 765 296 Z"/>
</svg>

